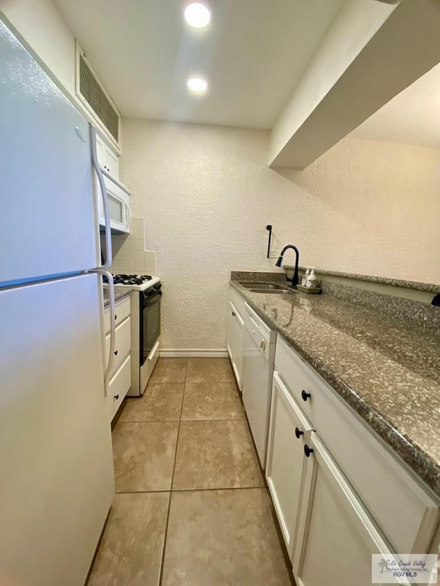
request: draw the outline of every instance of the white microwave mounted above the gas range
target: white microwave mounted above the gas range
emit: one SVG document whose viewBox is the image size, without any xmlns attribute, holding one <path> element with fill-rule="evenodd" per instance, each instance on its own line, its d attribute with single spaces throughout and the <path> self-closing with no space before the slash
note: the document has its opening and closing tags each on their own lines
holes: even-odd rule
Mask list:
<svg viewBox="0 0 440 586">
<path fill-rule="evenodd" d="M 104 175 L 107 200 L 109 202 L 110 230 L 113 234 L 129 234 L 131 220 L 130 192 L 122 183 L 115 181 L 105 171 L 102 171 L 102 174 Z M 102 196 L 100 197 L 99 226 L 102 230 L 105 227 Z"/>
</svg>

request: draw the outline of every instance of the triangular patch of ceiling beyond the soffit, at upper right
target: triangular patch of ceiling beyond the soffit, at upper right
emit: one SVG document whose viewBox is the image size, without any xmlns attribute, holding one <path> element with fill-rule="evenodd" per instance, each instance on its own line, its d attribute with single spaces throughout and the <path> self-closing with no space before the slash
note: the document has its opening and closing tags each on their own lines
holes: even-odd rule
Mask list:
<svg viewBox="0 0 440 586">
<path fill-rule="evenodd" d="M 397 94 L 350 136 L 440 148 L 440 64 Z"/>
</svg>

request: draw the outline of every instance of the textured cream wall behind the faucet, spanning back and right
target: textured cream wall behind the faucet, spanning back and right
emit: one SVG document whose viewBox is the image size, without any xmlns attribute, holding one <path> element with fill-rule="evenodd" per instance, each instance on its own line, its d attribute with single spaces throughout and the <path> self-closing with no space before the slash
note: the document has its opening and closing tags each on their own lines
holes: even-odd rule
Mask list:
<svg viewBox="0 0 440 586">
<path fill-rule="evenodd" d="M 164 348 L 225 348 L 230 271 L 277 270 L 268 223 L 301 264 L 440 282 L 440 150 L 345 139 L 277 172 L 263 131 L 124 120 L 122 134 L 122 181 L 164 281 Z"/>
</svg>

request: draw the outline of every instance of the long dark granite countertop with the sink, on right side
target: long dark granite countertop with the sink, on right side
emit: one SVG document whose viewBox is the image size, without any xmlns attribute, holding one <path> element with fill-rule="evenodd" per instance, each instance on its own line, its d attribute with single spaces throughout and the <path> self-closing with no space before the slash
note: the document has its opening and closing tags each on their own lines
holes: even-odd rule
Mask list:
<svg viewBox="0 0 440 586">
<path fill-rule="evenodd" d="M 234 278 L 234 289 L 440 497 L 440 335 L 332 295 L 251 293 Z"/>
</svg>

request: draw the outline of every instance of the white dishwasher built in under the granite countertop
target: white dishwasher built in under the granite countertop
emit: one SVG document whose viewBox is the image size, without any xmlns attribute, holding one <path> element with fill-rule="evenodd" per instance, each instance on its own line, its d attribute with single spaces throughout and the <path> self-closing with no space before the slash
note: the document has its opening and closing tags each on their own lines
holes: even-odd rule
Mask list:
<svg viewBox="0 0 440 586">
<path fill-rule="evenodd" d="M 245 303 L 244 322 L 243 405 L 248 416 L 261 467 L 264 469 L 269 432 L 276 330 L 271 330 L 247 303 Z"/>
</svg>

